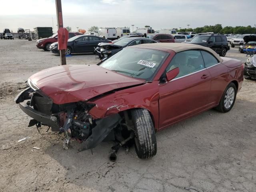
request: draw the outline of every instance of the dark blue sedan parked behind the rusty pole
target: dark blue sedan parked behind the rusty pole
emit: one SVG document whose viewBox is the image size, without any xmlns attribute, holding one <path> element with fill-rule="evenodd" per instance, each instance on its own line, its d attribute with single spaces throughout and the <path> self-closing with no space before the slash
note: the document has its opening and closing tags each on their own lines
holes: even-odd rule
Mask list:
<svg viewBox="0 0 256 192">
<path fill-rule="evenodd" d="M 94 53 L 95 47 L 101 42 L 110 42 L 110 40 L 93 35 L 74 36 L 68 40 L 68 46 L 65 54 Z M 60 53 L 58 50 L 58 42 L 50 45 L 50 51 L 56 54 Z"/>
</svg>

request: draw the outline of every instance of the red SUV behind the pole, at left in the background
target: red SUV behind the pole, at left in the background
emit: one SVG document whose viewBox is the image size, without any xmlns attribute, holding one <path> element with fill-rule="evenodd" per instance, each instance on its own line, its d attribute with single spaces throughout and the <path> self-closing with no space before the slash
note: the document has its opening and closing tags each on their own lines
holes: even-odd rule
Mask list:
<svg viewBox="0 0 256 192">
<path fill-rule="evenodd" d="M 77 35 L 82 35 L 82 33 L 69 32 L 68 38 L 72 38 Z M 58 41 L 58 34 L 56 33 L 48 38 L 42 38 L 42 39 L 36 40 L 36 47 L 39 49 L 43 49 L 45 51 L 50 51 L 50 45 L 57 41 Z"/>
</svg>

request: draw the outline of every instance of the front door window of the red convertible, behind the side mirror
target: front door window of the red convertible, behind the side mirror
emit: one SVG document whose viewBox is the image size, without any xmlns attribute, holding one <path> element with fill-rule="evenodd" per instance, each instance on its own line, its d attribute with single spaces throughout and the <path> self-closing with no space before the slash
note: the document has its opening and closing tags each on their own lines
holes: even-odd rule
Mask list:
<svg viewBox="0 0 256 192">
<path fill-rule="evenodd" d="M 176 78 L 204 69 L 204 60 L 199 50 L 188 50 L 177 53 L 166 68 L 166 72 L 178 67 Z"/>
</svg>

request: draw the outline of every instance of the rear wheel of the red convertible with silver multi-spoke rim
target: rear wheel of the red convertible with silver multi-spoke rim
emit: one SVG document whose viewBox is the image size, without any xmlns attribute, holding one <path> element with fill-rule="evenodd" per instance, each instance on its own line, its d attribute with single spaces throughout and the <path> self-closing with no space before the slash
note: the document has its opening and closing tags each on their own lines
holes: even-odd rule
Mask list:
<svg viewBox="0 0 256 192">
<path fill-rule="evenodd" d="M 228 84 L 221 96 L 219 105 L 215 109 L 222 113 L 229 112 L 236 101 L 236 92 L 236 85 L 232 82 Z"/>
</svg>

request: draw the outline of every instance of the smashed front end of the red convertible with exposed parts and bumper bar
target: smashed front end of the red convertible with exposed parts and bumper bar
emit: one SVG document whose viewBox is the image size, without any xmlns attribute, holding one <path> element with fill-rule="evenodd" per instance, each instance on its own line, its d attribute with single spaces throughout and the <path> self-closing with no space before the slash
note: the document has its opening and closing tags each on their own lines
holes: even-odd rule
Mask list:
<svg viewBox="0 0 256 192">
<path fill-rule="evenodd" d="M 114 131 L 122 118 L 116 113 L 95 119 L 90 110 L 95 106 L 87 101 L 55 104 L 30 80 L 28 87 L 15 98 L 23 112 L 33 119 L 28 126 L 51 127 L 52 131 L 65 134 L 64 149 L 68 149 L 70 139 L 83 143 L 82 150 L 96 147 L 105 140 L 114 140 Z"/>
</svg>

